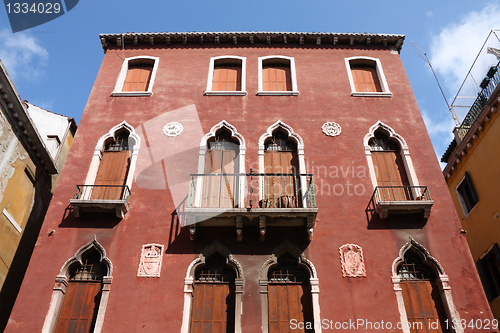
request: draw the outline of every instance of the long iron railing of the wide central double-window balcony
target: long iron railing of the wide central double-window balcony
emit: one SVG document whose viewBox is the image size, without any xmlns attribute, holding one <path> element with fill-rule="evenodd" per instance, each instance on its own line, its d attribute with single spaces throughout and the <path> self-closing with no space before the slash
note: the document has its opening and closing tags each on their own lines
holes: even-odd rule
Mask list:
<svg viewBox="0 0 500 333">
<path fill-rule="evenodd" d="M 192 174 L 189 208 L 316 208 L 312 174 Z"/>
</svg>

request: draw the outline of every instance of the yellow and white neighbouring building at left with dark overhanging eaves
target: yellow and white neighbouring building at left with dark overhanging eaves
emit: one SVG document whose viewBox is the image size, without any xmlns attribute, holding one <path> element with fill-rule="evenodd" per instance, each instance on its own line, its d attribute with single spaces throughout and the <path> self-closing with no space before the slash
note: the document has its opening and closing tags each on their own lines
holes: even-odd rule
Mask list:
<svg viewBox="0 0 500 333">
<path fill-rule="evenodd" d="M 23 102 L 0 61 L 0 331 L 75 131 L 73 118 Z"/>
</svg>

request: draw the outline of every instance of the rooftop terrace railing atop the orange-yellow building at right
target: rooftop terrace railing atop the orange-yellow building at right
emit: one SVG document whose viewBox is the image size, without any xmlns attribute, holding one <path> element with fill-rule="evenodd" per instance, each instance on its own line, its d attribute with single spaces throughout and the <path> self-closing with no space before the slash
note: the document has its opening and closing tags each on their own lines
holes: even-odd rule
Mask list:
<svg viewBox="0 0 500 333">
<path fill-rule="evenodd" d="M 455 129 L 456 135 L 458 135 L 461 140 L 465 138 L 467 132 L 474 124 L 474 121 L 486 106 L 488 99 L 500 84 L 500 71 L 498 70 L 499 68 L 500 62 L 496 66 L 490 68 L 486 77 L 480 84 L 481 91 L 478 93 L 476 100 L 472 104 L 469 112 L 465 116 L 460 126 Z"/>
</svg>

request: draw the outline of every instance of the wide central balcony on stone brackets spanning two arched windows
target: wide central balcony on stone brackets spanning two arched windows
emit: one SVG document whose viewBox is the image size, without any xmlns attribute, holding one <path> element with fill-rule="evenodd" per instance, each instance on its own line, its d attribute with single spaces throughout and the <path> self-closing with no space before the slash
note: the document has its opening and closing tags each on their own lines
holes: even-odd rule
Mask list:
<svg viewBox="0 0 500 333">
<path fill-rule="evenodd" d="M 191 237 L 197 226 L 258 227 L 261 240 L 268 226 L 304 226 L 309 239 L 318 209 L 311 174 L 193 174 L 186 215 Z"/>
</svg>

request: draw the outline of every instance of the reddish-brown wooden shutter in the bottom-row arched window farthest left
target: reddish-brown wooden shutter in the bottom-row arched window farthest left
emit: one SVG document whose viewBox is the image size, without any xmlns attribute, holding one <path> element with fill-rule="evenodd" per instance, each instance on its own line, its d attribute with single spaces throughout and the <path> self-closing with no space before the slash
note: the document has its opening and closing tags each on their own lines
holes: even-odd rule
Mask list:
<svg viewBox="0 0 500 333">
<path fill-rule="evenodd" d="M 54 333 L 92 332 L 100 297 L 100 282 L 71 281 L 59 310 Z"/>
</svg>

